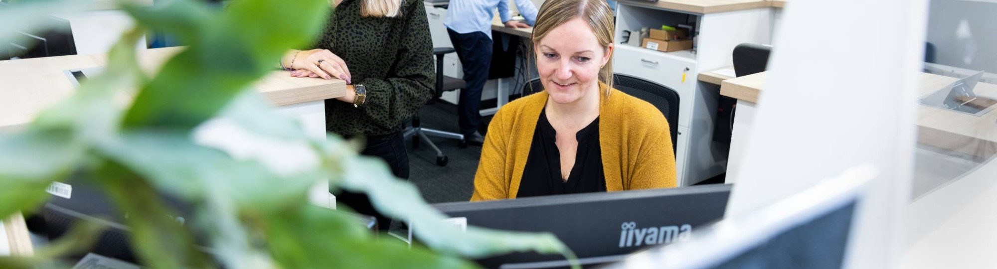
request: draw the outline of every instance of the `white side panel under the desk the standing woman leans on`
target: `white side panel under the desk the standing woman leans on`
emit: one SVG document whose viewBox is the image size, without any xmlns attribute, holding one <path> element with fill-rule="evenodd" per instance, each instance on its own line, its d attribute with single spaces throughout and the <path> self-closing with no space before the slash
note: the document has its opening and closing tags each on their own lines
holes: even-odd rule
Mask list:
<svg viewBox="0 0 997 269">
<path fill-rule="evenodd" d="M 277 111 L 297 118 L 305 134 L 315 138 L 325 138 L 325 101 L 280 106 L 277 107 Z M 315 182 L 308 191 L 308 201 L 318 206 L 335 209 L 336 198 L 329 193 L 329 180 Z"/>
</svg>

